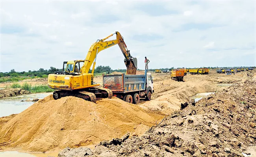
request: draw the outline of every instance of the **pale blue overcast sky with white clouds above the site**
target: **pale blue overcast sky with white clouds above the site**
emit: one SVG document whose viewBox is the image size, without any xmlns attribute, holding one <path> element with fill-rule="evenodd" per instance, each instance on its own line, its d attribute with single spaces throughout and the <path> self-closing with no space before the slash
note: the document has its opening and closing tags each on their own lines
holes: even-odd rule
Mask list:
<svg viewBox="0 0 256 157">
<path fill-rule="evenodd" d="M 1 0 L 0 71 L 85 59 L 119 31 L 138 68 L 255 66 L 256 0 Z M 114 39 L 114 37 L 110 39 Z M 96 66 L 125 69 L 119 46 Z"/>
</svg>

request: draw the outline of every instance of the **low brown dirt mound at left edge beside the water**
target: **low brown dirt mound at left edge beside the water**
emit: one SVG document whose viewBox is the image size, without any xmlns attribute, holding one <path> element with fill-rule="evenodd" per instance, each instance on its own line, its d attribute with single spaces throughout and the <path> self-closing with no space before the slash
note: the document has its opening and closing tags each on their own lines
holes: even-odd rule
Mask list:
<svg viewBox="0 0 256 157">
<path fill-rule="evenodd" d="M 21 88 L 0 89 L 0 99 L 5 97 L 15 97 L 17 95 L 30 94 L 30 91 Z"/>
</svg>

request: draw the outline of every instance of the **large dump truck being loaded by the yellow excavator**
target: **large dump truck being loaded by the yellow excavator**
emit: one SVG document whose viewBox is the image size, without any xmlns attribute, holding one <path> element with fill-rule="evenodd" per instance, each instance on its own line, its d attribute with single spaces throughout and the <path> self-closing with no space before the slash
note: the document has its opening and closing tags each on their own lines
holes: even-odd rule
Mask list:
<svg viewBox="0 0 256 157">
<path fill-rule="evenodd" d="M 103 88 L 110 89 L 113 96 L 134 104 L 139 103 L 140 98 L 151 100 L 154 92 L 152 75 L 147 70 L 145 75 L 103 75 Z"/>
</svg>

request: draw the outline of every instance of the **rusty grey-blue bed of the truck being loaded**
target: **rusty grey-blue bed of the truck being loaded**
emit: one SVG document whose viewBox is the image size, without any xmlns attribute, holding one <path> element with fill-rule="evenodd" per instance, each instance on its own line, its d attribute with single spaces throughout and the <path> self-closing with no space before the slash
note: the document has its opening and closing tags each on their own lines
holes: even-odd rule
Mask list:
<svg viewBox="0 0 256 157">
<path fill-rule="evenodd" d="M 147 75 L 103 75 L 103 87 L 111 89 L 113 93 L 127 93 L 145 90 Z"/>
</svg>

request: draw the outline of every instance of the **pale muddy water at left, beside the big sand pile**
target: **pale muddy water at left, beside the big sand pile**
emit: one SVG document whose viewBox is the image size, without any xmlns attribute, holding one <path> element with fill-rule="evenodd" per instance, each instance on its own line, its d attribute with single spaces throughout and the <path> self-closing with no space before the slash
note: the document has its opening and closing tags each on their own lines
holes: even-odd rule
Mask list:
<svg viewBox="0 0 256 157">
<path fill-rule="evenodd" d="M 28 95 L 20 95 L 17 97 L 0 99 L 0 117 L 8 116 L 11 114 L 20 113 L 26 110 L 34 102 L 26 102 L 21 100 L 33 100 L 35 98 L 43 99 L 52 93 L 35 93 Z"/>
</svg>

